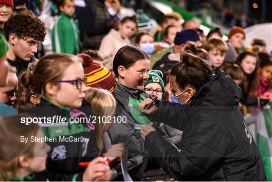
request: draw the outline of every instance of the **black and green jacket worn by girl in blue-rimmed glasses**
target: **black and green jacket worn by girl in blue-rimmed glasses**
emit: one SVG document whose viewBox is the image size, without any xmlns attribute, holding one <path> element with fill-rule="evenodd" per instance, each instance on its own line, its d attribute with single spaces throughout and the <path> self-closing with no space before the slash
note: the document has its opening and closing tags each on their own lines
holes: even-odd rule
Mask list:
<svg viewBox="0 0 272 182">
<path fill-rule="evenodd" d="M 75 109 L 73 109 L 75 111 Z M 74 119 L 87 118 L 92 116 L 92 107 L 86 100 L 82 101 L 82 106 L 76 110 L 83 112 L 74 113 Z M 64 106 L 53 104 L 49 99 L 42 97 L 41 102 L 28 111 L 33 117 L 37 118 L 53 118 L 58 116 L 66 118 L 69 121 L 72 117 L 72 109 Z M 72 114 L 72 115 L 71 115 Z M 77 116 L 78 115 L 78 116 Z M 90 120 L 92 122 L 93 120 Z M 96 145 L 95 133 L 90 130 L 86 122 L 48 123 L 42 120 L 39 123 L 45 137 L 55 139 L 54 141 L 46 141 L 51 147 L 48 153 L 46 168 L 48 171 L 48 179 L 51 181 L 82 181 L 84 168 L 79 166 L 80 162 L 91 161 L 98 157 L 99 149 Z M 89 141 L 63 141 L 64 138 L 88 138 Z"/>
</svg>

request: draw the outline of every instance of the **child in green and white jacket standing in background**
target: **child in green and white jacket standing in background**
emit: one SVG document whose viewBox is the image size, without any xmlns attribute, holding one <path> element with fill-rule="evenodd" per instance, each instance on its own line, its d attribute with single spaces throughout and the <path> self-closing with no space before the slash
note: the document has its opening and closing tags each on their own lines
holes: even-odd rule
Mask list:
<svg viewBox="0 0 272 182">
<path fill-rule="evenodd" d="M 53 52 L 77 54 L 80 52 L 80 34 L 75 14 L 74 0 L 60 0 L 60 18 L 52 30 Z"/>
</svg>

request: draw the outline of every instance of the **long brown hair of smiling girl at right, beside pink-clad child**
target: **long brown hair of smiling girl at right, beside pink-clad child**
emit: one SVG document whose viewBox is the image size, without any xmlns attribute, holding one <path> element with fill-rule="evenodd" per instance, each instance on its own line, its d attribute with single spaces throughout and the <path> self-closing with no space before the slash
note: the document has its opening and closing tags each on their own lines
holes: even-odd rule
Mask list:
<svg viewBox="0 0 272 182">
<path fill-rule="evenodd" d="M 241 67 L 242 61 L 246 56 L 255 57 L 257 60 L 256 68 L 250 75 L 246 74 Z M 236 63 L 242 68 L 244 73 L 243 87 L 246 93 L 251 97 L 257 97 L 257 92 L 259 88 L 259 77 L 258 77 L 258 68 L 259 68 L 259 57 L 253 52 L 242 52 L 236 59 Z"/>
</svg>

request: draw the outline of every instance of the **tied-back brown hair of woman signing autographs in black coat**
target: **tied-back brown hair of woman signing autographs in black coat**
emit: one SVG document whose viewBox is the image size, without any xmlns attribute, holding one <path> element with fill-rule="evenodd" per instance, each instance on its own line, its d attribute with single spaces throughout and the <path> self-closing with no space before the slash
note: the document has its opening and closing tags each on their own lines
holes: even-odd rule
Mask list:
<svg viewBox="0 0 272 182">
<path fill-rule="evenodd" d="M 196 90 L 210 80 L 213 69 L 205 60 L 191 53 L 182 54 L 182 62 L 175 65 L 170 72 L 176 76 L 176 83 L 181 89 L 191 86 Z"/>
</svg>

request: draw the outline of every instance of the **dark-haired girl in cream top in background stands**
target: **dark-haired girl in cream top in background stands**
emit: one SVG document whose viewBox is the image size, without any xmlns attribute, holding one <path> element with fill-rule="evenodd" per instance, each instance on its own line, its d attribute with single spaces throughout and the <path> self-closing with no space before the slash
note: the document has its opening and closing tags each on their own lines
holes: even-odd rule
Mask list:
<svg viewBox="0 0 272 182">
<path fill-rule="evenodd" d="M 110 32 L 102 39 L 99 52 L 104 57 L 104 65 L 112 70 L 113 58 L 119 48 L 125 45 L 131 45 L 129 38 L 137 29 L 138 20 L 136 16 L 124 17 L 118 31 L 111 29 Z"/>
</svg>

